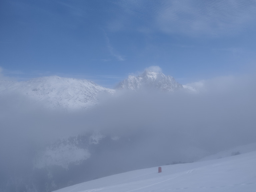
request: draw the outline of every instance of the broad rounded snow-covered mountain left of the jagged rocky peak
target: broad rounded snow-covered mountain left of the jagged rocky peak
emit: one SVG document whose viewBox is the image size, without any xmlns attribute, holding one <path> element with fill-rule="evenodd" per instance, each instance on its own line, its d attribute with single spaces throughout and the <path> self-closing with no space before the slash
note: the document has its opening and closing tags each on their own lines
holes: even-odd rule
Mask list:
<svg viewBox="0 0 256 192">
<path fill-rule="evenodd" d="M 23 82 L 0 81 L 0 93 L 17 93 L 46 103 L 46 108 L 81 109 L 98 102 L 99 94 L 114 94 L 88 80 L 58 76 L 34 78 Z"/>
</svg>

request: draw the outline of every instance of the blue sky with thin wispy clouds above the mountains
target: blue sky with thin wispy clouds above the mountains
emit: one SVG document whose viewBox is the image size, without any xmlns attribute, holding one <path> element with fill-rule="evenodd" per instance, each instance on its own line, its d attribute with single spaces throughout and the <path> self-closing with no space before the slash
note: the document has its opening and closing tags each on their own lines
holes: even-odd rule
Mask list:
<svg viewBox="0 0 256 192">
<path fill-rule="evenodd" d="M 159 66 L 182 84 L 255 71 L 256 0 L 1 0 L 0 78 L 112 88 Z"/>
</svg>

